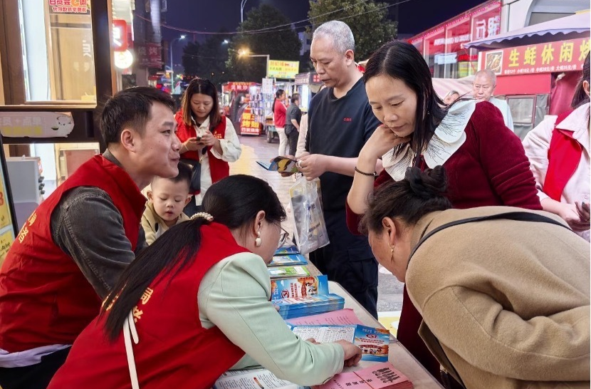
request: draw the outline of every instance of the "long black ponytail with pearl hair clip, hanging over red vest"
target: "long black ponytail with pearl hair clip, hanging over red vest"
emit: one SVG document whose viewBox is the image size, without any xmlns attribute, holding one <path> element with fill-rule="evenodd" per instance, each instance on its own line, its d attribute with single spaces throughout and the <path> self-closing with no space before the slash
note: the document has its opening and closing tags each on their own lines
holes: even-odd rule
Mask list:
<svg viewBox="0 0 591 389">
<path fill-rule="evenodd" d="M 214 217 L 214 222 L 229 229 L 246 227 L 259 211 L 264 211 L 265 219 L 271 223 L 286 218 L 286 211 L 273 188 L 250 175 L 231 175 L 211 185 L 202 206 L 204 212 Z M 119 336 L 125 318 L 152 281 L 172 271 L 177 274 L 192 264 L 201 245 L 203 224 L 209 222 L 197 217 L 171 227 L 123 271 L 100 313 L 109 312 L 105 332 L 111 341 Z"/>
</svg>

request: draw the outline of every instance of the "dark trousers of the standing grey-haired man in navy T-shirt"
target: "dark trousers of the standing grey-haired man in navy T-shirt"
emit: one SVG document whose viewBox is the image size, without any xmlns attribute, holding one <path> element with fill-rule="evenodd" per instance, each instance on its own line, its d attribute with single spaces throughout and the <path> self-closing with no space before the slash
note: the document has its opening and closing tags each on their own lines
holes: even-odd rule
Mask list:
<svg viewBox="0 0 591 389">
<path fill-rule="evenodd" d="M 310 261 L 377 318 L 377 261 L 367 237 L 349 232 L 344 209 L 324 217 L 330 244 L 312 251 Z"/>
</svg>

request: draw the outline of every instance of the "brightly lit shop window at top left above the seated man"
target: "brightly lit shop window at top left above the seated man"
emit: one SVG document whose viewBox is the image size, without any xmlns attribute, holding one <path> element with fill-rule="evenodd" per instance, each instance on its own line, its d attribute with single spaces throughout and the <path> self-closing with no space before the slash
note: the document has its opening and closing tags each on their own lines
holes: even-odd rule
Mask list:
<svg viewBox="0 0 591 389">
<path fill-rule="evenodd" d="M 19 25 L 25 100 L 94 102 L 90 0 L 19 0 Z"/>
</svg>

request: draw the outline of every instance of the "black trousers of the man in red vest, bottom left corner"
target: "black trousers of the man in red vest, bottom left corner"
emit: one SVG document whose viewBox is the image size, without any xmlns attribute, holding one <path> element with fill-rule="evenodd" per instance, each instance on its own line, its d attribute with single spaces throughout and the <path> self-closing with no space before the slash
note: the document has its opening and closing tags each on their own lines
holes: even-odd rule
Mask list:
<svg viewBox="0 0 591 389">
<path fill-rule="evenodd" d="M 41 357 L 41 362 L 22 368 L 0 368 L 2 389 L 46 389 L 70 353 L 65 348 Z"/>
</svg>

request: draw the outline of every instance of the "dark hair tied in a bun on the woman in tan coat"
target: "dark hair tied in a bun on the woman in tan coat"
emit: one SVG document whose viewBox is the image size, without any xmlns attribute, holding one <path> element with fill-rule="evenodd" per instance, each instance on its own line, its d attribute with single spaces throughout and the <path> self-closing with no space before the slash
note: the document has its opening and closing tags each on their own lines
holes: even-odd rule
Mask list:
<svg viewBox="0 0 591 389">
<path fill-rule="evenodd" d="M 409 167 L 404 180 L 386 182 L 370 197 L 360 229 L 382 231 L 382 219 L 401 219 L 412 226 L 429 212 L 451 208 L 445 197 L 447 177 L 442 166 L 422 172 L 419 167 Z"/>
</svg>

